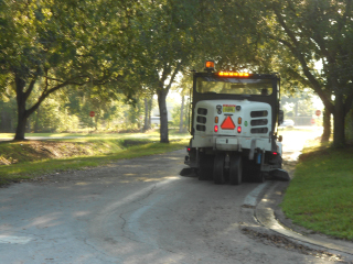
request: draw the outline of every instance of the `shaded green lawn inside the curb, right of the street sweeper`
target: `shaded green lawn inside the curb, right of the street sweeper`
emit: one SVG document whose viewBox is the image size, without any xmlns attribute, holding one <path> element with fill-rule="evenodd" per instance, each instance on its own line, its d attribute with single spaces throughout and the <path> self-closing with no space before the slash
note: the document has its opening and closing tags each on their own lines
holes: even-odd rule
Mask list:
<svg viewBox="0 0 353 264">
<path fill-rule="evenodd" d="M 353 148 L 304 148 L 281 207 L 299 226 L 353 241 Z"/>
</svg>

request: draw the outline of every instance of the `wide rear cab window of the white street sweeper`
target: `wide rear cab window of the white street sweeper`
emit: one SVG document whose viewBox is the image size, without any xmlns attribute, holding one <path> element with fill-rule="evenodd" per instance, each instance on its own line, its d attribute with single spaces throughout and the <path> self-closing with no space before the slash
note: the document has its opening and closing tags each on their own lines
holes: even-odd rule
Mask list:
<svg viewBox="0 0 353 264">
<path fill-rule="evenodd" d="M 200 94 L 270 96 L 272 94 L 272 80 L 199 77 L 196 91 Z"/>
</svg>

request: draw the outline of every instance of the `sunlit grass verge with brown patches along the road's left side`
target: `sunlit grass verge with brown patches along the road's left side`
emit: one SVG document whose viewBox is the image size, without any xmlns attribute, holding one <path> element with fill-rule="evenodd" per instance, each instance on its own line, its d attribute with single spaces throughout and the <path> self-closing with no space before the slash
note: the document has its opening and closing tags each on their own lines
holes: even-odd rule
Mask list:
<svg viewBox="0 0 353 264">
<path fill-rule="evenodd" d="M 110 139 L 24 141 L 0 143 L 0 186 L 41 175 L 103 166 L 110 162 L 156 155 L 181 150 L 189 143 L 186 135 L 174 136 L 169 144 L 156 139 L 132 135 Z"/>
</svg>

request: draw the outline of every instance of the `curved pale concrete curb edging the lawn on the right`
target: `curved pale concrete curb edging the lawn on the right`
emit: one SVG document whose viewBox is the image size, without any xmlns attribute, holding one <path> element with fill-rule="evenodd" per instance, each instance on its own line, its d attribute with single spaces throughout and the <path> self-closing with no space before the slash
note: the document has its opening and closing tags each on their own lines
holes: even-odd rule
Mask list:
<svg viewBox="0 0 353 264">
<path fill-rule="evenodd" d="M 272 184 L 267 189 L 263 199 L 257 204 L 255 208 L 255 218 L 264 227 L 280 233 L 290 239 L 298 240 L 303 243 L 309 243 L 318 246 L 325 248 L 328 250 L 339 251 L 353 256 L 353 243 L 331 239 L 321 234 L 302 234 L 296 232 L 278 222 L 276 213 L 278 211 L 278 205 L 282 199 L 282 190 L 286 189 L 288 183 L 272 182 Z"/>
</svg>

